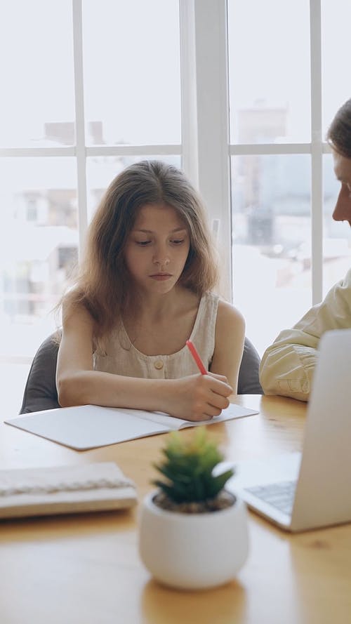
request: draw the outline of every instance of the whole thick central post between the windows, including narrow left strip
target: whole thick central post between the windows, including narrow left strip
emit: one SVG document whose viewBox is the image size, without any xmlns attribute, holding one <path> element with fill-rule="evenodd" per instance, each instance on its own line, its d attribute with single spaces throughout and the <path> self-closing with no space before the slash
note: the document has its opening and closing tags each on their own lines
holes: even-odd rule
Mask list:
<svg viewBox="0 0 351 624">
<path fill-rule="evenodd" d="M 216 227 L 223 294 L 232 298 L 226 0 L 180 0 L 183 167 Z M 186 54 L 186 56 L 185 56 Z M 194 88 L 194 85 L 196 88 Z"/>
</svg>

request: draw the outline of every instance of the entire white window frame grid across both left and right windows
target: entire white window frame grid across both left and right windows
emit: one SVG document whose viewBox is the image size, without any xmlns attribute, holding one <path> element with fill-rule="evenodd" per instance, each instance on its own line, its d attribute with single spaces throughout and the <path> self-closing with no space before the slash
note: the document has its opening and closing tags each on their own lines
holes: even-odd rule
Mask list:
<svg viewBox="0 0 351 624">
<path fill-rule="evenodd" d="M 218 224 L 218 243 L 232 298 L 232 208 L 230 157 L 247 154 L 311 154 L 312 303 L 322 300 L 322 140 L 321 0 L 310 0 L 311 127 L 308 143 L 230 144 L 227 54 L 227 0 L 179 0 L 182 142 L 180 145 L 86 145 L 81 0 L 72 0 L 74 94 L 77 144 L 74 147 L 0 148 L 0 157 L 74 157 L 77 162 L 79 248 L 88 225 L 86 159 L 98 156 L 180 155 L 187 175 Z"/>
</svg>

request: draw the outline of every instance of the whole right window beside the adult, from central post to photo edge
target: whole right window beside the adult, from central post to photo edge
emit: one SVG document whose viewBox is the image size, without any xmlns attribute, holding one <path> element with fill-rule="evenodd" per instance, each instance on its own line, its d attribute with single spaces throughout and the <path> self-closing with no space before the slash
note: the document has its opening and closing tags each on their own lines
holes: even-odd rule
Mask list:
<svg viewBox="0 0 351 624">
<path fill-rule="evenodd" d="M 233 293 L 262 353 L 350 267 L 349 228 L 331 219 L 339 185 L 325 136 L 350 97 L 342 77 L 351 8 L 227 8 Z"/>
</svg>

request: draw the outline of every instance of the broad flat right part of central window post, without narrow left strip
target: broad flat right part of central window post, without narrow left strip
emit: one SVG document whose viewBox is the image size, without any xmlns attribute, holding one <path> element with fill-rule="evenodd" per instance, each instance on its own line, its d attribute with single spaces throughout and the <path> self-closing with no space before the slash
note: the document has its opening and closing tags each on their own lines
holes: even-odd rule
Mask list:
<svg viewBox="0 0 351 624">
<path fill-rule="evenodd" d="M 214 225 L 223 294 L 232 298 L 227 0 L 194 0 L 199 190 Z M 214 228 L 215 229 L 215 228 Z M 217 229 L 217 227 L 216 227 Z"/>
</svg>

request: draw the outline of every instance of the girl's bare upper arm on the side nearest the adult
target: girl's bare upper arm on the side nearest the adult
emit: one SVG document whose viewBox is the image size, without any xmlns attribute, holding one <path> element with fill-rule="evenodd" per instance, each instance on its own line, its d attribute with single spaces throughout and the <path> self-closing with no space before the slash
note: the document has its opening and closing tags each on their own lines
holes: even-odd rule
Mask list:
<svg viewBox="0 0 351 624">
<path fill-rule="evenodd" d="M 239 368 L 244 350 L 245 321 L 242 314 L 230 303 L 218 303 L 215 351 L 211 373 L 224 375 L 237 393 Z"/>
</svg>

